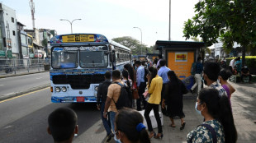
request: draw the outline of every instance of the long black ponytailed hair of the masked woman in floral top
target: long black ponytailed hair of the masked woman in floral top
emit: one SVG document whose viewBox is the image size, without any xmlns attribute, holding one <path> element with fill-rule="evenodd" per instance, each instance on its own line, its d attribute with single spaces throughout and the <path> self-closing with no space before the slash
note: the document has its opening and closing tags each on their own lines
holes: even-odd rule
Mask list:
<svg viewBox="0 0 256 143">
<path fill-rule="evenodd" d="M 218 90 L 207 87 L 200 91 L 198 99 L 201 100 L 200 104 L 206 103 L 211 117 L 220 121 L 225 132 L 225 142 L 236 142 L 237 132 L 228 97 L 225 95 L 219 96 Z"/>
</svg>

